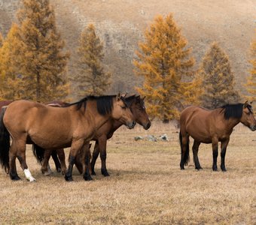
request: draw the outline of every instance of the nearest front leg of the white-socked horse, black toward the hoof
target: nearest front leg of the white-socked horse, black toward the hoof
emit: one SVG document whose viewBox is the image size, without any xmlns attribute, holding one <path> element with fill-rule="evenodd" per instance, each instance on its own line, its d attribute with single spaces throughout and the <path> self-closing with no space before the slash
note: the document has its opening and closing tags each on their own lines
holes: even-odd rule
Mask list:
<svg viewBox="0 0 256 225">
<path fill-rule="evenodd" d="M 66 181 L 73 181 L 72 170 L 75 163 L 75 157 L 77 156 L 78 151 L 81 151 L 83 147 L 84 147 L 84 139 L 76 139 L 72 141 L 72 145 L 69 153 L 69 166 L 65 174 Z"/>
</svg>

